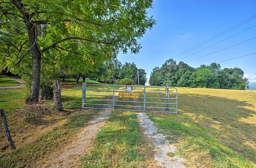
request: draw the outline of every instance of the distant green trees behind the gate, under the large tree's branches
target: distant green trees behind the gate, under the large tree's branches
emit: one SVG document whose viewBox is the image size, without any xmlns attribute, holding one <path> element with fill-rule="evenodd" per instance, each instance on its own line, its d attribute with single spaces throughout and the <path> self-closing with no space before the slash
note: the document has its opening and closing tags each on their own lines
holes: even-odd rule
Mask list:
<svg viewBox="0 0 256 168">
<path fill-rule="evenodd" d="M 103 83 L 115 83 L 117 85 L 132 85 L 134 79 L 139 72 L 139 84 L 145 85 L 146 72 L 144 69 L 137 68 L 134 63 L 125 63 L 122 65 L 117 59 L 111 59 L 110 61 L 105 61 L 101 65 L 94 69 L 80 69 L 79 67 L 63 67 L 61 78 L 72 77 L 76 79 L 77 83 L 80 78 L 83 81 L 86 78 L 90 78 L 95 81 Z M 138 76 L 136 77 L 135 84 L 138 85 Z"/>
</svg>

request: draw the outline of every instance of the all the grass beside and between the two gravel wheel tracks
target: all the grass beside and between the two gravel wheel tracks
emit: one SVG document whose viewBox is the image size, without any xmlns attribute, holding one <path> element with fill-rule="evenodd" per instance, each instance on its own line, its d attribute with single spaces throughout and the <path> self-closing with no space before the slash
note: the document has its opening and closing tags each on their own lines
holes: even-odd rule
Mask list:
<svg viewBox="0 0 256 168">
<path fill-rule="evenodd" d="M 71 113 L 41 125 L 45 127 L 62 121 L 56 130 L 38 135 L 30 143 L 18 146 L 18 150 L 0 154 L 0 166 L 8 167 L 10 162 L 10 167 L 30 166 L 39 158 L 42 162 L 47 161 L 44 158 L 47 154 L 60 148 L 62 142 L 97 114 L 97 110 L 88 110 L 88 115 L 72 117 L 72 111 L 81 108 L 81 83 L 76 85 L 74 80 L 64 81 L 61 88 L 63 107 Z M 178 93 L 178 115 L 147 114 L 172 140 L 177 154 L 186 159 L 186 166 L 256 167 L 256 91 L 178 88 Z M 0 91 L 0 106 L 6 109 L 11 133 L 15 129 L 23 130 L 25 125 L 38 129 L 38 125 L 32 123 L 16 124 L 16 119 L 11 117 L 15 108 L 25 105 L 25 96 L 25 89 Z M 19 137 L 19 133 L 19 136 L 24 134 L 15 132 L 14 139 Z M 97 134 L 94 143 L 91 153 L 82 158 L 86 167 L 120 166 L 121 163 L 128 167 L 147 165 L 144 139 L 135 113 L 131 111 L 112 111 L 110 121 Z"/>
</svg>

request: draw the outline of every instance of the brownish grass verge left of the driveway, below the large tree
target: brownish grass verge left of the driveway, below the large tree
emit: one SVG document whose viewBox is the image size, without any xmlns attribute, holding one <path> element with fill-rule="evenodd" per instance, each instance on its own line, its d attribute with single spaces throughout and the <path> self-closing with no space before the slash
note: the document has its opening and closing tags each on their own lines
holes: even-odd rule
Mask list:
<svg viewBox="0 0 256 168">
<path fill-rule="evenodd" d="M 36 122 L 39 124 L 39 128 L 33 127 L 36 123 L 19 123 L 15 125 L 19 129 L 23 129 L 24 133 L 29 134 L 29 131 L 37 130 L 38 133 L 33 134 L 34 136 L 31 142 L 27 144 L 17 144 L 18 148 L 9 152 L 5 152 L 0 155 L 0 167 L 31 167 L 35 165 L 44 165 L 49 162 L 49 156 L 53 155 L 55 152 L 63 148 L 69 142 L 72 141 L 72 135 L 76 134 L 79 128 L 86 126 L 87 122 L 90 121 L 93 117 L 97 115 L 96 110 L 87 110 L 87 111 L 78 111 L 75 114 L 55 114 L 51 119 L 41 118 L 42 120 L 47 120 L 47 122 Z M 12 123 L 12 127 L 13 127 Z M 27 128 L 23 128 L 23 127 Z M 44 127 L 49 127 L 53 125 L 49 130 L 41 132 L 41 129 Z M 12 128 L 11 127 L 11 128 Z M 1 128 L 2 129 L 2 128 Z M 12 131 L 13 130 L 13 131 Z M 12 128 L 11 132 L 15 132 L 15 128 Z M 16 131 L 16 134 L 22 132 Z M 40 134 L 41 132 L 41 134 Z M 1 132 L 2 134 L 2 132 Z M 15 134 L 13 135 L 14 143 Z M 17 135 L 21 136 L 21 135 Z M 1 135 L 2 141 L 6 141 Z M 29 137 L 20 137 L 20 138 L 31 138 Z M 19 146 L 21 145 L 21 146 Z"/>
</svg>

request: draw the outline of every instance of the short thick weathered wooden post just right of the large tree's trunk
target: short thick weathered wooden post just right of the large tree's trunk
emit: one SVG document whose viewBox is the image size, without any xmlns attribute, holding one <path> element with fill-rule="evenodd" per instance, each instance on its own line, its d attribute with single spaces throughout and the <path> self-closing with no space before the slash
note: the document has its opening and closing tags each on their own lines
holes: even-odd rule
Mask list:
<svg viewBox="0 0 256 168">
<path fill-rule="evenodd" d="M 59 111 L 63 110 L 61 102 L 61 93 L 58 80 L 53 80 L 53 104 Z"/>
</svg>

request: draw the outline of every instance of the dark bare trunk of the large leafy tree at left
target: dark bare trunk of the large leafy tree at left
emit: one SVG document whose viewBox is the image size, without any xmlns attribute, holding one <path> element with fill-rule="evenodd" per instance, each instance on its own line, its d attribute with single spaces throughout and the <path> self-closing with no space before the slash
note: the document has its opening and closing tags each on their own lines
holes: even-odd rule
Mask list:
<svg viewBox="0 0 256 168">
<path fill-rule="evenodd" d="M 29 36 L 29 43 L 32 52 L 33 70 L 32 70 L 32 85 L 30 89 L 30 95 L 27 99 L 28 104 L 37 103 L 39 97 L 39 84 L 40 84 L 40 72 L 41 72 L 41 52 L 37 44 L 37 30 L 36 25 L 27 23 L 27 30 Z"/>
</svg>

